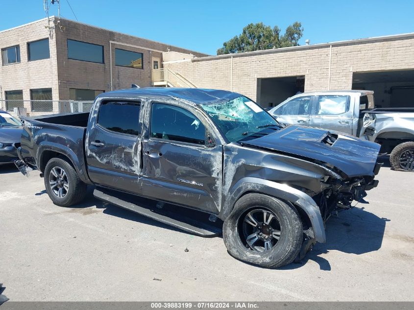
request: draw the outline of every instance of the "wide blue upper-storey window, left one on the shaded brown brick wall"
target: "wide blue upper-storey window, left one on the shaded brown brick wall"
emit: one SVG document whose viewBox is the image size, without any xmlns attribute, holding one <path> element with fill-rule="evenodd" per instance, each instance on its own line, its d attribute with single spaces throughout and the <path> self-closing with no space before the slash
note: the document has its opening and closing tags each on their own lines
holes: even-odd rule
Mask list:
<svg viewBox="0 0 414 310">
<path fill-rule="evenodd" d="M 103 46 L 68 39 L 68 58 L 103 64 Z"/>
</svg>

